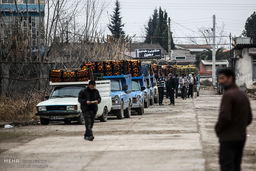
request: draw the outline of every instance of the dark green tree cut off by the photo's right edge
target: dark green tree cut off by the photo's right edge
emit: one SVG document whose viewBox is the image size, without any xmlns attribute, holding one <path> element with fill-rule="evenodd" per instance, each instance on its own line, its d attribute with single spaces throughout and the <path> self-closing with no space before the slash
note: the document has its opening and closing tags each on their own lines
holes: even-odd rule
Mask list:
<svg viewBox="0 0 256 171">
<path fill-rule="evenodd" d="M 256 12 L 254 12 L 245 23 L 244 36 L 252 37 L 253 42 L 256 43 Z"/>
</svg>

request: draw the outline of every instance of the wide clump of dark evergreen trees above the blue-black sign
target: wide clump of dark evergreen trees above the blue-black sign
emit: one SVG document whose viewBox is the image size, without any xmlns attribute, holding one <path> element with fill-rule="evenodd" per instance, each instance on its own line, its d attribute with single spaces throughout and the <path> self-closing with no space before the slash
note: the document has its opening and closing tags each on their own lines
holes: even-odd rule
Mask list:
<svg viewBox="0 0 256 171">
<path fill-rule="evenodd" d="M 159 43 L 166 51 L 168 51 L 168 14 L 155 9 L 152 17 L 149 18 L 148 25 L 145 28 L 145 43 Z M 175 47 L 173 39 L 171 42 L 172 49 Z"/>
</svg>

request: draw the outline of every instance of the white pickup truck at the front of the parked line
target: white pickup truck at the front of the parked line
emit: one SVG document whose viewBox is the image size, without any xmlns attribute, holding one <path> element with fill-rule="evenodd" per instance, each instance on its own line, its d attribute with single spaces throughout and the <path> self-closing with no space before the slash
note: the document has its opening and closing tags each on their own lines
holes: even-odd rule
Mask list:
<svg viewBox="0 0 256 171">
<path fill-rule="evenodd" d="M 77 121 L 84 123 L 80 103 L 78 102 L 79 92 L 88 86 L 88 82 L 50 82 L 53 90 L 48 100 L 37 105 L 37 116 L 40 117 L 42 125 L 48 125 L 50 121 L 64 121 L 71 124 Z M 108 112 L 112 107 L 110 95 L 110 81 L 96 81 L 96 88 L 101 95 L 101 103 L 98 105 L 96 119 L 106 122 Z"/>
</svg>

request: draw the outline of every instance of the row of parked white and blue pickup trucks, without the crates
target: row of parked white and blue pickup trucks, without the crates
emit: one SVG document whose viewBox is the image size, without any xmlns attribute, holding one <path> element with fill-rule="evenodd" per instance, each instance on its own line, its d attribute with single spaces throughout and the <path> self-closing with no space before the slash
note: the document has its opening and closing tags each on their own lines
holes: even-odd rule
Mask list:
<svg viewBox="0 0 256 171">
<path fill-rule="evenodd" d="M 149 72 L 150 66 L 140 68 L 140 74 L 105 75 L 96 81 L 102 101 L 99 104 L 96 119 L 106 122 L 108 116 L 118 119 L 130 118 L 132 113 L 142 115 L 144 108 L 158 103 L 157 80 Z M 64 121 L 70 124 L 76 121 L 84 123 L 78 102 L 78 94 L 88 85 L 88 81 L 53 82 L 52 91 L 47 100 L 37 105 L 37 116 L 42 125 L 50 121 Z"/>
</svg>

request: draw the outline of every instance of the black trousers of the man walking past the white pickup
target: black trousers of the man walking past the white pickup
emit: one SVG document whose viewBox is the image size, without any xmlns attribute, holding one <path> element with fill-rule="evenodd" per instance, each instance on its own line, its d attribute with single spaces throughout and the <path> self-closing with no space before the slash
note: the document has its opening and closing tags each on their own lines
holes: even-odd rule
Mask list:
<svg viewBox="0 0 256 171">
<path fill-rule="evenodd" d="M 94 125 L 94 120 L 96 113 L 94 110 L 88 110 L 84 113 L 84 121 L 85 121 L 85 137 L 93 136 L 92 128 Z"/>
</svg>

